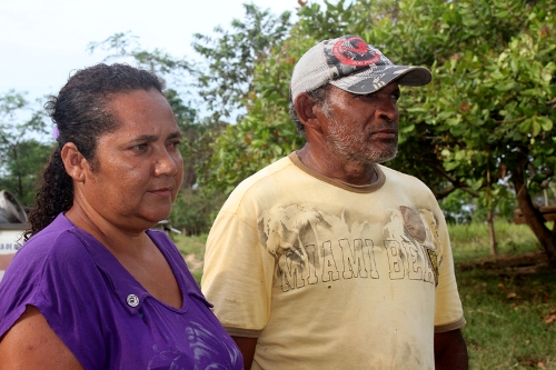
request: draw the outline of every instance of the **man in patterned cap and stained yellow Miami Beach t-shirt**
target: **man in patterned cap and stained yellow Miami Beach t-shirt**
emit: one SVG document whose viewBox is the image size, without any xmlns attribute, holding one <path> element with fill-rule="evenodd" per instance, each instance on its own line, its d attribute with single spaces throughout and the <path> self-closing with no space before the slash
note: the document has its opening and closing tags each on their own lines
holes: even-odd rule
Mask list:
<svg viewBox="0 0 556 370">
<path fill-rule="evenodd" d="M 241 182 L 210 231 L 202 289 L 246 369 L 467 369 L 443 213 L 396 156 L 394 66 L 358 36 L 296 64 L 302 149 Z"/>
</svg>

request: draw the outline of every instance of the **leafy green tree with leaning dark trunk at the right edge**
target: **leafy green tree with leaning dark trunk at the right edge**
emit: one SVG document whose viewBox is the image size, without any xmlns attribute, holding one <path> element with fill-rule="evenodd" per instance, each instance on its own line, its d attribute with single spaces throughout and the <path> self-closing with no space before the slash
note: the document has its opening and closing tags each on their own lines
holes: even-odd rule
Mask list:
<svg viewBox="0 0 556 370">
<path fill-rule="evenodd" d="M 454 28 L 450 22 L 457 22 L 455 16 L 463 20 L 467 16 L 471 21 L 467 27 L 473 26 L 470 33 L 486 38 L 475 48 L 436 58 L 435 79 L 421 106 L 424 111 L 415 109 L 409 117 L 425 121 L 434 137 L 441 138 L 435 142 L 437 153 L 456 181 L 465 181 L 475 190 L 488 190 L 492 169 L 504 169 L 499 172 L 505 172 L 514 186 L 527 224 L 549 263 L 556 267 L 556 230 L 548 229 L 532 200 L 556 164 L 556 8 L 544 1 L 534 6 L 494 2 L 488 7 L 475 1 L 455 9 L 458 12 L 453 11 L 453 17 L 443 18 L 446 29 Z M 477 14 L 497 20 L 510 18 L 513 23 L 486 32 L 484 29 L 492 27 Z"/>
</svg>

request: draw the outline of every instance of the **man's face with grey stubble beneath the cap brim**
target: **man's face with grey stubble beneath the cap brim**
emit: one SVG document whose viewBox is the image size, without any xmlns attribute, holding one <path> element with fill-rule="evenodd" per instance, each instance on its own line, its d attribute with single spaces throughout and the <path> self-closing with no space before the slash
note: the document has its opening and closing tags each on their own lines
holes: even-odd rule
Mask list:
<svg viewBox="0 0 556 370">
<path fill-rule="evenodd" d="M 369 164 L 396 157 L 399 88 L 391 82 L 366 96 L 331 87 L 320 117 L 329 149 L 344 160 Z"/>
</svg>

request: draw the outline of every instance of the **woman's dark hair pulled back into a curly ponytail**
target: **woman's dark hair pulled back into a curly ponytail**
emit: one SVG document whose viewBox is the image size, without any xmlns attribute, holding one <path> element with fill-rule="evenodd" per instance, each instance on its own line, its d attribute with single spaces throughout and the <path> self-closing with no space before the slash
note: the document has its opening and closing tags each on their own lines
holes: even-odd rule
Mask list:
<svg viewBox="0 0 556 370">
<path fill-rule="evenodd" d="M 73 180 L 60 156 L 63 146 L 75 143 L 95 166 L 98 138 L 119 126 L 109 107 L 113 96 L 150 89 L 162 93 L 163 82 L 146 70 L 128 64 L 97 64 L 77 71 L 58 97 L 50 97 L 44 108 L 57 126 L 58 147 L 43 170 L 33 210 L 29 213 L 26 241 L 73 206 Z"/>
</svg>

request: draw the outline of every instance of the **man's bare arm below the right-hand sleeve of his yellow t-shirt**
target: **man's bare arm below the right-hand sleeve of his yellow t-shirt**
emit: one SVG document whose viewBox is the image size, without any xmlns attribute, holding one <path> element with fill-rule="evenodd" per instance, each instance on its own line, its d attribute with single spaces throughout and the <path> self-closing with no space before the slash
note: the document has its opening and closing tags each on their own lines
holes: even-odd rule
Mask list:
<svg viewBox="0 0 556 370">
<path fill-rule="evenodd" d="M 437 370 L 467 370 L 467 346 L 459 329 L 435 333 Z"/>
</svg>

